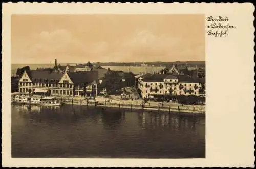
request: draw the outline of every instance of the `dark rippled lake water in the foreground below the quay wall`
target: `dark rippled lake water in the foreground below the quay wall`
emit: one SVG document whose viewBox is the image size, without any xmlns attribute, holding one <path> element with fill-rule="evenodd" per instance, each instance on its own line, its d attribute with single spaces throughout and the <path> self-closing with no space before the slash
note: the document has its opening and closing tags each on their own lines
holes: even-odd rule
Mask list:
<svg viewBox="0 0 256 169">
<path fill-rule="evenodd" d="M 12 104 L 12 157 L 205 158 L 205 116 Z"/>
</svg>

